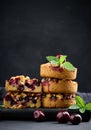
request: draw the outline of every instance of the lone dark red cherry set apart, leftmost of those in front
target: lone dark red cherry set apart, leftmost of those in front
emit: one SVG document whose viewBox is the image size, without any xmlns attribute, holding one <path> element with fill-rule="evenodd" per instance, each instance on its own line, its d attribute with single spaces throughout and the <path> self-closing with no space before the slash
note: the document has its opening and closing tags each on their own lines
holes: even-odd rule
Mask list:
<svg viewBox="0 0 91 130">
<path fill-rule="evenodd" d="M 33 113 L 33 117 L 36 121 L 44 121 L 45 120 L 45 114 L 41 110 L 35 110 Z"/>
</svg>

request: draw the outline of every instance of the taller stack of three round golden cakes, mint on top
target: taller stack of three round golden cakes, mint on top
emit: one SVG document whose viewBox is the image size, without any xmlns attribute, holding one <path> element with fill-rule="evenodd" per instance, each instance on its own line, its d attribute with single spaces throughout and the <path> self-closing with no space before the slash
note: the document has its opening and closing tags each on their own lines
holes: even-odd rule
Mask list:
<svg viewBox="0 0 91 130">
<path fill-rule="evenodd" d="M 75 94 L 78 90 L 78 83 L 73 80 L 76 79 L 77 68 L 65 60 L 62 61 L 60 57 L 51 56 L 51 62 L 40 66 L 44 93 L 42 97 L 43 107 L 66 108 L 76 103 Z M 62 61 L 61 66 L 54 64 L 55 59 Z M 66 66 L 64 63 L 69 65 Z"/>
</svg>

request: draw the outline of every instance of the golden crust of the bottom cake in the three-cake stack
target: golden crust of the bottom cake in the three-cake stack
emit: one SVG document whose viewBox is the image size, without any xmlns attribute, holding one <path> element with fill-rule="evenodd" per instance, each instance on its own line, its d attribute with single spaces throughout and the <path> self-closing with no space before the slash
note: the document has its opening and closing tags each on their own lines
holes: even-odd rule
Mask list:
<svg viewBox="0 0 91 130">
<path fill-rule="evenodd" d="M 68 108 L 69 106 L 76 104 L 75 98 L 63 99 L 63 96 L 58 94 L 57 98 L 51 98 L 46 96 L 42 98 L 42 105 L 44 108 Z"/>
</svg>

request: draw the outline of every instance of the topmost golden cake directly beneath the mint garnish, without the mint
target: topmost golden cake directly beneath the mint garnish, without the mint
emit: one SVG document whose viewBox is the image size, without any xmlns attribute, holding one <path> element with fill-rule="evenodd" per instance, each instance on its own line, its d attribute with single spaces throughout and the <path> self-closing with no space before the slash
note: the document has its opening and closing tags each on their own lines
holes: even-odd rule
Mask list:
<svg viewBox="0 0 91 130">
<path fill-rule="evenodd" d="M 58 78 L 58 79 L 76 79 L 77 68 L 74 71 L 60 68 L 57 66 L 52 66 L 51 63 L 46 63 L 40 65 L 40 76 L 41 77 L 50 77 L 50 78 Z"/>
</svg>

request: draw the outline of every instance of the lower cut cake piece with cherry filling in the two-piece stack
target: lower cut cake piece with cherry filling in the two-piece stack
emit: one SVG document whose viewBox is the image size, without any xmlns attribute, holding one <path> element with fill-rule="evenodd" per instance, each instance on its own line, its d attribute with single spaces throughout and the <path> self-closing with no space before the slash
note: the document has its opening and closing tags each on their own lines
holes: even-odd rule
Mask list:
<svg viewBox="0 0 91 130">
<path fill-rule="evenodd" d="M 8 92 L 3 103 L 5 108 L 39 108 L 41 106 L 41 94 Z"/>
</svg>

